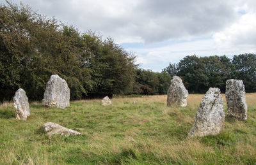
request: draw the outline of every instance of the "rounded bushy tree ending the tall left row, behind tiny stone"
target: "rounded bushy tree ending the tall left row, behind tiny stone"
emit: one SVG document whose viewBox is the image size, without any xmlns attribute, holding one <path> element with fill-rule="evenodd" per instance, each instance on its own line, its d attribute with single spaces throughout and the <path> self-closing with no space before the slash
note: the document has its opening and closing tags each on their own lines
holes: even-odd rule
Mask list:
<svg viewBox="0 0 256 165">
<path fill-rule="evenodd" d="M 105 41 L 92 32 L 84 33 L 84 64 L 92 69 L 91 96 L 113 96 L 132 91 L 137 65 L 136 56 L 116 45 L 113 39 Z"/>
</svg>

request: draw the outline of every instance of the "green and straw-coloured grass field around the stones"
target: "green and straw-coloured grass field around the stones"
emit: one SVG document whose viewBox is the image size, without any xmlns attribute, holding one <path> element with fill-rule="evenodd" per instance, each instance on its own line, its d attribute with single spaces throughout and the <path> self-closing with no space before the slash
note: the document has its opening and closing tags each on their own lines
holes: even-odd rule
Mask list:
<svg viewBox="0 0 256 165">
<path fill-rule="evenodd" d="M 73 101 L 65 110 L 31 103 L 26 121 L 1 104 L 0 164 L 256 164 L 256 94 L 246 94 L 248 120 L 225 118 L 220 134 L 189 138 L 203 96 L 190 94 L 186 108 L 167 107 L 166 96 Z M 83 135 L 49 139 L 45 122 Z"/>
</svg>

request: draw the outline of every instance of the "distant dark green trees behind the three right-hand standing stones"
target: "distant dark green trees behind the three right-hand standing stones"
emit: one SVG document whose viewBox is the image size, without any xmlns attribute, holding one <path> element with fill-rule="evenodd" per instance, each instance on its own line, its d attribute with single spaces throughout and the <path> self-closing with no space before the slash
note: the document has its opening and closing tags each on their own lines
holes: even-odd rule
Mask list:
<svg viewBox="0 0 256 165">
<path fill-rule="evenodd" d="M 256 55 L 197 57 L 186 56 L 178 64 L 163 69 L 170 76 L 180 76 L 190 93 L 205 93 L 209 87 L 225 92 L 228 79 L 243 80 L 246 92 L 256 92 Z"/>
</svg>

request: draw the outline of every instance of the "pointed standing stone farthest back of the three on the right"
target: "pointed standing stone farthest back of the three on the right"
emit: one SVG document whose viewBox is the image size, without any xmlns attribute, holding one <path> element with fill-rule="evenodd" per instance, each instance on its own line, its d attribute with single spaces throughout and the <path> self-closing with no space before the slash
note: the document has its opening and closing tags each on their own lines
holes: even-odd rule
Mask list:
<svg viewBox="0 0 256 165">
<path fill-rule="evenodd" d="M 171 85 L 167 92 L 167 106 L 179 105 L 182 107 L 187 106 L 188 90 L 184 87 L 179 76 L 173 76 Z"/>
</svg>

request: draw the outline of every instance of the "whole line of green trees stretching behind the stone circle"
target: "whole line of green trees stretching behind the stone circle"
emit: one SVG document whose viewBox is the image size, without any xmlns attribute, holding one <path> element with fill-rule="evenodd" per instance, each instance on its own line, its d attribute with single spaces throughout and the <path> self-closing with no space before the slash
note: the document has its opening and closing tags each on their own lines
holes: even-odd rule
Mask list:
<svg viewBox="0 0 256 165">
<path fill-rule="evenodd" d="M 26 90 L 29 100 L 42 100 L 51 75 L 64 78 L 71 99 L 127 94 L 166 94 L 173 75 L 189 92 L 225 89 L 227 78 L 244 80 L 255 92 L 255 55 L 187 56 L 161 73 L 140 69 L 136 55 L 92 31 L 79 32 L 22 4 L 0 4 L 0 101 Z M 254 68 L 253 68 L 254 67 Z"/>
</svg>

